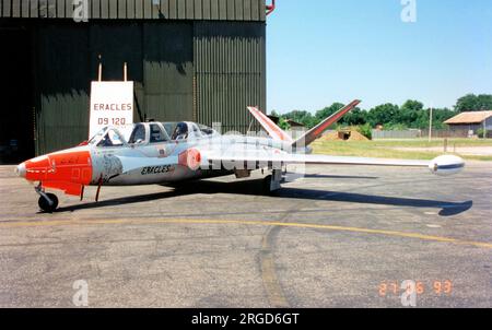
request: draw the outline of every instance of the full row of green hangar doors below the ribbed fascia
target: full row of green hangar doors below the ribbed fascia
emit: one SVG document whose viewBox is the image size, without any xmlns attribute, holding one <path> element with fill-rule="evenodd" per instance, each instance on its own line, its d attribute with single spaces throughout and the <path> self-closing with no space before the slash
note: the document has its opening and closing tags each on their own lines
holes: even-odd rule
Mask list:
<svg viewBox="0 0 492 330">
<path fill-rule="evenodd" d="M 95 21 L 36 25 L 36 153 L 87 138 L 90 82 L 136 82 L 137 121 L 222 122 L 246 132 L 248 105 L 266 108 L 265 22 Z M 124 42 L 122 42 L 124 40 Z"/>
</svg>

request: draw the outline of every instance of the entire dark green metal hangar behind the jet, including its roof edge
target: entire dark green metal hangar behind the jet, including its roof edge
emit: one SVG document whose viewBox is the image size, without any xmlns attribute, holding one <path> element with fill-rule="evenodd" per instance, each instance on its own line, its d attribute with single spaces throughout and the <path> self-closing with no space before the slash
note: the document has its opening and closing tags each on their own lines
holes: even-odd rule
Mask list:
<svg viewBox="0 0 492 330">
<path fill-rule="evenodd" d="M 87 138 L 91 81 L 134 81 L 134 118 L 245 132 L 266 108 L 265 0 L 0 0 L 0 163 Z"/>
</svg>

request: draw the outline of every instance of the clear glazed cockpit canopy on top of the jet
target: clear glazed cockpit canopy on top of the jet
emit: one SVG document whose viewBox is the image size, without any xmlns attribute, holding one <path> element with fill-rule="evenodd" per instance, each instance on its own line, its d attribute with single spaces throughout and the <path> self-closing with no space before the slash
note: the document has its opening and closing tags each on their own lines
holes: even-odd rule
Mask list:
<svg viewBox="0 0 492 330">
<path fill-rule="evenodd" d="M 125 133 L 126 132 L 126 133 Z M 218 134 L 211 128 L 195 122 L 140 122 L 125 129 L 106 127 L 97 132 L 89 143 L 99 148 L 122 145 L 145 145 L 169 141 L 204 139 Z"/>
</svg>

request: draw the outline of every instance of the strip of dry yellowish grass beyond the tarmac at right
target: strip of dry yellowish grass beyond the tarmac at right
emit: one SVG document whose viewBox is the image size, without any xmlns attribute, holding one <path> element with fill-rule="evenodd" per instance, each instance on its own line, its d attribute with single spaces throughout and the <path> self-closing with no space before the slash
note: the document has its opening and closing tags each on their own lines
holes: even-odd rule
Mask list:
<svg viewBox="0 0 492 330">
<path fill-rule="evenodd" d="M 458 149 L 465 146 L 492 146 L 492 140 L 449 139 L 448 150 L 454 145 Z M 399 148 L 436 148 L 443 146 L 444 140 L 436 139 L 432 142 L 424 139 L 413 140 L 376 140 L 376 141 L 316 141 L 313 143 L 314 153 L 339 156 L 361 156 L 377 158 L 401 160 L 433 160 L 444 152 L 398 150 Z M 492 156 L 462 155 L 469 161 L 492 161 Z"/>
</svg>

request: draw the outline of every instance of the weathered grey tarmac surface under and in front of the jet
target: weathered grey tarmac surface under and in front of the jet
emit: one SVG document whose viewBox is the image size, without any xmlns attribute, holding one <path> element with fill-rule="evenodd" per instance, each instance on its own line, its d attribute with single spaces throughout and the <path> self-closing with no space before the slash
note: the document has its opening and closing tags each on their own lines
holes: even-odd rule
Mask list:
<svg viewBox="0 0 492 330">
<path fill-rule="evenodd" d="M 91 187 L 57 193 L 52 214 L 13 169 L 0 166 L 1 307 L 75 307 L 82 287 L 89 307 L 402 307 L 407 280 L 417 307 L 492 307 L 491 163 L 454 177 L 309 166 L 271 197 L 260 174 L 103 187 L 98 203 Z"/>
</svg>

